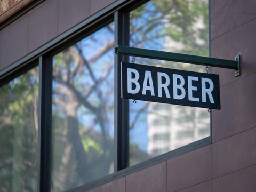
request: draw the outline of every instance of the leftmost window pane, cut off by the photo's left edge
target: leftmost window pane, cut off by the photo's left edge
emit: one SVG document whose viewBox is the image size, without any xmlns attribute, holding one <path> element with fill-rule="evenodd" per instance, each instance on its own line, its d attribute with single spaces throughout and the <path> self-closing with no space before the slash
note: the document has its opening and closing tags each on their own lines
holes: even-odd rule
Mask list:
<svg viewBox="0 0 256 192">
<path fill-rule="evenodd" d="M 0 191 L 37 190 L 38 67 L 0 87 Z"/>
</svg>

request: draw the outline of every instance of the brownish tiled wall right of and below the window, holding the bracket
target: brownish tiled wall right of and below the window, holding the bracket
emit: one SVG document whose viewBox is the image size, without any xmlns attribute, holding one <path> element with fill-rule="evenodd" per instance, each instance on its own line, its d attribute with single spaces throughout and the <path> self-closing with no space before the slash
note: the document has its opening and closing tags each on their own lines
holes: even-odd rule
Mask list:
<svg viewBox="0 0 256 192">
<path fill-rule="evenodd" d="M 96 191 L 256 190 L 256 2 L 211 0 L 211 57 L 242 54 L 242 75 L 220 75 L 221 110 L 212 110 L 212 145 L 127 175 Z"/>
</svg>

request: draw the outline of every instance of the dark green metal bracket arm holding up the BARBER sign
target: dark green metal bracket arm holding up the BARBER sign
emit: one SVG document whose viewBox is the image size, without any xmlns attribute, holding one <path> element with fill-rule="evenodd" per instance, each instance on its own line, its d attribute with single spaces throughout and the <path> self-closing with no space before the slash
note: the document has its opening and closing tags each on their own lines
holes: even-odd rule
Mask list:
<svg viewBox="0 0 256 192">
<path fill-rule="evenodd" d="M 201 57 L 196 55 L 172 53 L 165 51 L 156 51 L 148 49 L 140 49 L 128 46 L 117 45 L 115 54 L 130 55 L 134 57 L 159 59 L 165 61 L 176 61 L 183 63 L 191 63 L 196 65 L 204 65 L 211 67 L 221 67 L 235 70 L 235 76 L 241 75 L 241 54 L 236 56 L 235 60 L 217 59 L 209 57 Z"/>
</svg>

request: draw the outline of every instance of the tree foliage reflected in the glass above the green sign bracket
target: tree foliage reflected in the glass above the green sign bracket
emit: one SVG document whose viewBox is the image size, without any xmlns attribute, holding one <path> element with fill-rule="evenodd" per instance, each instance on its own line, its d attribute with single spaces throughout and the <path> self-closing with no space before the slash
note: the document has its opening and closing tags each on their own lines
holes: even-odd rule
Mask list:
<svg viewBox="0 0 256 192">
<path fill-rule="evenodd" d="M 132 11 L 131 24 L 134 46 L 151 46 L 151 49 L 155 46 L 164 50 L 166 37 L 169 37 L 172 43 L 183 45 L 172 52 L 209 55 L 208 4 L 205 0 L 150 1 Z"/>
</svg>

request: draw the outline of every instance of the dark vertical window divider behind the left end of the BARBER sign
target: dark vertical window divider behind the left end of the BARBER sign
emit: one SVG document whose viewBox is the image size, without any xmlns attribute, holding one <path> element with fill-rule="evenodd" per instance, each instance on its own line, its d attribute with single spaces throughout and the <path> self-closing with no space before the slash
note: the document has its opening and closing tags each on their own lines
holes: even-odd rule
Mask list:
<svg viewBox="0 0 256 192">
<path fill-rule="evenodd" d="M 114 13 L 115 45 L 129 46 L 129 20 L 129 12 Z M 115 55 L 115 173 L 129 166 L 129 100 L 121 99 L 121 61 L 129 57 Z"/>
</svg>

